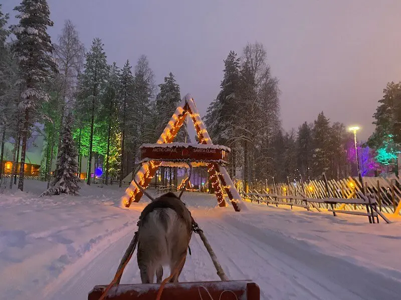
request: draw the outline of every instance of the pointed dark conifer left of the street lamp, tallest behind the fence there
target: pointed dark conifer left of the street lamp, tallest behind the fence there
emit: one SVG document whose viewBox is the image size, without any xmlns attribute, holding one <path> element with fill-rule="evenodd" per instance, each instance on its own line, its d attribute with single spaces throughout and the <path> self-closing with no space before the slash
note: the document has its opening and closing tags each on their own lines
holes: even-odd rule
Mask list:
<svg viewBox="0 0 401 300">
<path fill-rule="evenodd" d="M 318 178 L 323 172 L 330 174 L 331 135 L 330 122 L 323 111 L 319 113 L 313 127 L 313 176 Z"/>
</svg>

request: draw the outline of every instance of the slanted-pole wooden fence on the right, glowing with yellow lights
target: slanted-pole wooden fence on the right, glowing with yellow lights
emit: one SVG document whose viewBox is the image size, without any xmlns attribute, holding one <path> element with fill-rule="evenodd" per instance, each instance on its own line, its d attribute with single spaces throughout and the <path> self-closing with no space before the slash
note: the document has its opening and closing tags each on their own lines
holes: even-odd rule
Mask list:
<svg viewBox="0 0 401 300">
<path fill-rule="evenodd" d="M 244 190 L 241 181 L 237 186 Z M 401 180 L 395 175 L 391 177 L 347 177 L 339 180 L 311 180 L 308 183 L 302 181 L 288 181 L 280 183 L 251 184 L 251 190 L 257 193 L 274 193 L 280 196 L 304 195 L 307 198 L 361 198 L 361 195 L 370 193 L 376 199 L 379 211 L 398 215 L 401 210 Z M 350 202 L 350 201 L 349 201 Z M 320 203 L 320 202 L 317 202 Z M 321 203 L 319 204 L 321 205 Z M 341 203 L 341 210 L 363 210 L 365 207 L 355 201 Z"/>
</svg>

